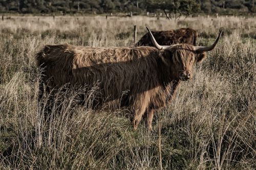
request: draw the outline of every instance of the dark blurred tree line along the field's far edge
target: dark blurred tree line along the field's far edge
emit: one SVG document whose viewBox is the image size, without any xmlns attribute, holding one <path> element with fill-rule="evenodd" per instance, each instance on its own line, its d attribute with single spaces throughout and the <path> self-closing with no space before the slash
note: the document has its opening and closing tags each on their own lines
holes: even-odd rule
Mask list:
<svg viewBox="0 0 256 170">
<path fill-rule="evenodd" d="M 19 13 L 110 13 L 168 12 L 200 13 L 256 12 L 254 0 L 0 0 L 0 12 Z"/>
</svg>

